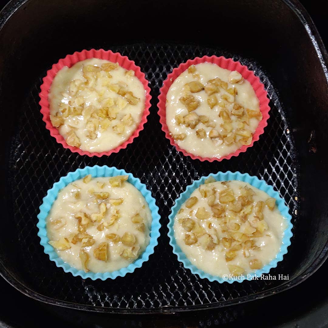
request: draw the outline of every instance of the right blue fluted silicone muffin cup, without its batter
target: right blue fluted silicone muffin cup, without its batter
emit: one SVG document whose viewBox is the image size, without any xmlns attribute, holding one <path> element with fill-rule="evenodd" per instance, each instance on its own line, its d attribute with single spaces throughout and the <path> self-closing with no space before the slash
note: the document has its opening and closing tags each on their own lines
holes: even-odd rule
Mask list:
<svg viewBox="0 0 328 328">
<path fill-rule="evenodd" d="M 267 265 L 265 265 L 262 269 L 256 270 L 254 273 L 249 274 L 249 277 L 247 275 L 244 275 L 244 277 L 239 278 L 232 278 L 229 279 L 223 279 L 222 277 L 213 276 L 211 274 L 205 273 L 204 271 L 198 269 L 194 264 L 190 262 L 190 260 L 186 257 L 186 255 L 182 252 L 181 248 L 176 243 L 175 237 L 174 237 L 174 217 L 179 211 L 180 207 L 183 205 L 183 203 L 190 197 L 190 195 L 194 192 L 195 189 L 197 189 L 200 185 L 204 184 L 205 180 L 208 177 L 214 177 L 216 181 L 228 181 L 228 180 L 240 180 L 244 182 L 248 182 L 253 187 L 256 187 L 264 192 L 266 192 L 269 196 L 276 198 L 276 204 L 278 206 L 278 210 L 280 211 L 281 215 L 286 219 L 287 222 L 287 228 L 284 231 L 284 237 L 282 239 L 282 244 L 279 250 L 279 253 L 276 255 L 276 257 Z M 247 173 L 239 173 L 239 172 L 230 172 L 227 171 L 225 173 L 218 172 L 217 174 L 210 174 L 208 176 L 203 176 L 199 180 L 194 181 L 192 185 L 187 186 L 186 191 L 183 192 L 176 200 L 175 204 L 171 209 L 171 214 L 169 215 L 169 237 L 170 237 L 170 245 L 173 247 L 173 253 L 176 254 L 178 257 L 178 260 L 183 263 L 185 268 L 190 269 L 190 271 L 193 274 L 198 275 L 201 278 L 207 278 L 210 281 L 218 281 L 220 283 L 222 282 L 228 282 L 233 283 L 235 281 L 242 282 L 244 280 L 252 280 L 254 277 L 259 277 L 264 273 L 269 273 L 269 271 L 272 268 L 277 267 L 277 263 L 279 261 L 282 261 L 283 256 L 287 254 L 287 247 L 291 244 L 290 238 L 293 236 L 292 234 L 292 228 L 293 225 L 291 223 L 292 216 L 289 214 L 289 208 L 285 204 L 284 199 L 279 195 L 277 191 L 273 189 L 272 186 L 269 186 L 265 183 L 263 180 L 259 180 L 256 176 L 251 176 Z"/>
</svg>

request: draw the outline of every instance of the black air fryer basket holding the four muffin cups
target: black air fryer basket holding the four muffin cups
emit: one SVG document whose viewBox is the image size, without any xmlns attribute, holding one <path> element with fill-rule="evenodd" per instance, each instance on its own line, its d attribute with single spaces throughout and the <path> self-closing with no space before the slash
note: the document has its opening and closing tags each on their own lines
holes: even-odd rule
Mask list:
<svg viewBox="0 0 328 328">
<path fill-rule="evenodd" d="M 304 15 L 298 3 L 287 0 L 12 1 L 0 18 L 5 140 L 1 275 L 44 302 L 117 313 L 226 306 L 272 295 L 311 275 L 328 250 L 328 87 L 322 58 L 326 53 Z M 68 53 L 91 48 L 127 55 L 145 72 L 152 89 L 144 130 L 127 149 L 109 157 L 63 149 L 46 130 L 38 105 L 42 77 L 51 65 Z M 218 163 L 176 152 L 161 131 L 156 107 L 159 88 L 174 67 L 212 54 L 232 57 L 254 70 L 271 100 L 268 127 L 260 140 L 246 153 Z M 115 280 L 83 280 L 64 273 L 43 253 L 37 237 L 36 215 L 47 190 L 60 176 L 95 164 L 139 177 L 160 208 L 155 253 L 142 268 Z M 166 224 L 174 199 L 200 176 L 226 170 L 263 178 L 289 205 L 292 245 L 270 272 L 289 275 L 288 281 L 209 282 L 184 269 L 172 253 Z"/>
</svg>

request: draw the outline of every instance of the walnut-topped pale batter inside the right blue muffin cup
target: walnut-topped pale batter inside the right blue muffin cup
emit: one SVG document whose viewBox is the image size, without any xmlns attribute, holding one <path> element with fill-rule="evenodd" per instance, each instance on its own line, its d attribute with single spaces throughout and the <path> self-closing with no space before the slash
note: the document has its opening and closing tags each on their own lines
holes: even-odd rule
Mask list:
<svg viewBox="0 0 328 328">
<path fill-rule="evenodd" d="M 287 222 L 275 201 L 242 181 L 201 185 L 174 218 L 176 242 L 206 273 L 252 273 L 269 264 L 281 246 Z"/>
</svg>

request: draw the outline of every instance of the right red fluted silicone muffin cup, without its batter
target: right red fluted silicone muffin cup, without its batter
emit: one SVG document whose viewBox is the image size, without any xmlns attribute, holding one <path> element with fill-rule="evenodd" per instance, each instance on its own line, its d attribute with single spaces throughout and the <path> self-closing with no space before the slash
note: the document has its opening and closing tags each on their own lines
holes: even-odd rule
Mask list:
<svg viewBox="0 0 328 328">
<path fill-rule="evenodd" d="M 260 111 L 262 113 L 262 120 L 259 122 L 258 127 L 256 128 L 252 142 L 249 145 L 243 145 L 241 148 L 237 149 L 234 153 L 218 157 L 200 157 L 194 154 L 190 154 L 184 149 L 180 148 L 174 141 L 172 135 L 169 132 L 168 126 L 166 124 L 166 95 L 169 91 L 174 80 L 185 70 L 188 69 L 190 65 L 196 65 L 199 63 L 213 63 L 218 65 L 221 68 L 224 68 L 229 71 L 237 71 L 239 72 L 245 80 L 247 80 L 253 87 L 256 97 L 259 100 Z M 158 115 L 160 117 L 159 121 L 162 124 L 162 130 L 165 132 L 165 136 L 170 140 L 172 146 L 184 154 L 185 156 L 190 156 L 192 159 L 199 159 L 200 161 L 221 161 L 222 159 L 230 159 L 232 156 L 238 156 L 240 153 L 246 151 L 247 148 L 252 147 L 254 142 L 259 139 L 260 134 L 264 132 L 264 128 L 268 125 L 267 120 L 269 116 L 269 98 L 268 93 L 264 89 L 264 85 L 260 82 L 260 79 L 255 76 L 253 71 L 250 71 L 247 66 L 241 65 L 240 62 L 234 61 L 231 58 L 225 58 L 223 56 L 216 57 L 216 56 L 204 56 L 202 58 L 196 57 L 195 59 L 187 60 L 186 63 L 180 64 L 177 68 L 174 68 L 172 73 L 167 76 L 167 79 L 164 81 L 162 88 L 160 89 L 160 95 L 158 97 Z"/>
</svg>

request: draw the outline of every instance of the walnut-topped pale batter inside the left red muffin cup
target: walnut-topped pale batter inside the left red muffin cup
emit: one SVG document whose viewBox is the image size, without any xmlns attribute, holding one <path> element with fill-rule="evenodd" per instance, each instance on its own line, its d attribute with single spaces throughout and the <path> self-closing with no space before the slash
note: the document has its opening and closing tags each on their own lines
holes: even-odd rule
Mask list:
<svg viewBox="0 0 328 328">
<path fill-rule="evenodd" d="M 67 144 L 103 152 L 129 139 L 145 108 L 145 90 L 133 71 L 103 59 L 63 67 L 50 92 L 50 118 Z"/>
</svg>

